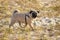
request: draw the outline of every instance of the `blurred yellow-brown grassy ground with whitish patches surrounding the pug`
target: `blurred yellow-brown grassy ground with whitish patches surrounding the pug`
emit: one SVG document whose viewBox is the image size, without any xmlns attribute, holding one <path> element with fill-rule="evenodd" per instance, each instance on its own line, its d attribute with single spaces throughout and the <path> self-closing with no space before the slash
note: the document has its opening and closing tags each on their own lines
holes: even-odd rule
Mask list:
<svg viewBox="0 0 60 40">
<path fill-rule="evenodd" d="M 40 11 L 31 23 L 35 31 L 28 25 L 21 30 L 18 23 L 9 31 L 15 9 L 23 13 Z M 60 0 L 0 0 L 0 40 L 60 40 Z"/>
</svg>

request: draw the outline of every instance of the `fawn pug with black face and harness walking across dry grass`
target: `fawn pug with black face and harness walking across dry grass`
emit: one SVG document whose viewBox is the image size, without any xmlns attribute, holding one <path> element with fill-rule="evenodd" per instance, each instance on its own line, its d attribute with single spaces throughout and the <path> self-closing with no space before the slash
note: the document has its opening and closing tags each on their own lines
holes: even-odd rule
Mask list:
<svg viewBox="0 0 60 40">
<path fill-rule="evenodd" d="M 29 12 L 26 12 L 26 13 L 19 13 L 17 10 L 15 10 L 12 14 L 9 28 L 14 23 L 18 22 L 20 27 L 22 27 L 21 23 L 25 23 L 25 27 L 28 24 L 31 27 L 31 29 L 34 30 L 33 27 L 31 26 L 31 22 L 33 19 L 37 17 L 37 13 L 39 13 L 39 11 L 30 10 Z"/>
</svg>

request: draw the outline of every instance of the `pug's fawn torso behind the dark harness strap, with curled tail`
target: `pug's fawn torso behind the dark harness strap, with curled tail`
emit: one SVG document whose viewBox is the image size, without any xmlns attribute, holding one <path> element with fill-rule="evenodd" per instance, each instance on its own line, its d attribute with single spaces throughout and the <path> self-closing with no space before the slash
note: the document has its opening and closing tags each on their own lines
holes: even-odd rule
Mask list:
<svg viewBox="0 0 60 40">
<path fill-rule="evenodd" d="M 18 11 L 14 11 L 11 18 L 18 22 L 25 23 L 25 14 L 26 13 L 23 14 L 23 13 L 19 13 Z"/>
</svg>

